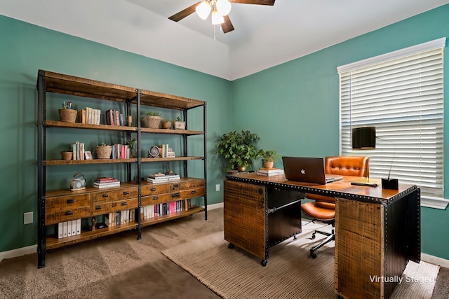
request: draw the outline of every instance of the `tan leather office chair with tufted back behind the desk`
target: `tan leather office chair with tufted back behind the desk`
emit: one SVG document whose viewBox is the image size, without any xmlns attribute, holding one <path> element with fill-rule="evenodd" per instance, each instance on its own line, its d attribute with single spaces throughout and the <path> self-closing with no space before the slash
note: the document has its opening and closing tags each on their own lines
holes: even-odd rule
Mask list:
<svg viewBox="0 0 449 299">
<path fill-rule="evenodd" d="M 368 176 L 368 157 L 355 156 L 339 156 L 326 157 L 325 172 L 326 174 L 339 174 L 342 176 Z M 312 222 L 318 220 L 322 223 L 331 224 L 332 232 L 322 232 L 315 230 L 311 235 L 311 239 L 315 238 L 318 232 L 321 235 L 328 236 L 320 244 L 310 249 L 312 258 L 316 258 L 316 249 L 321 248 L 324 244 L 335 240 L 335 197 L 306 193 L 306 198 L 315 200 L 314 202 L 306 202 L 301 205 L 301 209 L 307 216 L 311 217 Z"/>
</svg>

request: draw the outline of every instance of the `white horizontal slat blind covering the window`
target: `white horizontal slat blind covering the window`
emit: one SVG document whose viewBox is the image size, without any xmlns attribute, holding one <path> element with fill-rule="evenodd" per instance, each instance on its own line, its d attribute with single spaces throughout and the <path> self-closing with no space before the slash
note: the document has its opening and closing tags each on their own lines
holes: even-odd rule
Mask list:
<svg viewBox="0 0 449 299">
<path fill-rule="evenodd" d="M 370 177 L 421 187 L 443 198 L 445 39 L 338 68 L 342 155 L 370 157 Z M 353 127 L 375 126 L 376 148 L 351 148 Z"/>
</svg>

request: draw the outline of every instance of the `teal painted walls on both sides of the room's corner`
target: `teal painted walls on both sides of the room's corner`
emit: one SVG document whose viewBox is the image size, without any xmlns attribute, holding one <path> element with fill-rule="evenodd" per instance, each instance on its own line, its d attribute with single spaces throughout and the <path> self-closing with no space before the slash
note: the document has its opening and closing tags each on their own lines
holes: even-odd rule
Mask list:
<svg viewBox="0 0 449 299">
<path fill-rule="evenodd" d="M 36 244 L 36 225 L 23 225 L 22 215 L 34 211 L 36 222 L 38 69 L 207 101 L 208 200 L 217 203 L 222 191 L 215 184 L 223 174 L 212 153 L 218 136 L 251 130 L 261 148 L 282 155 L 338 154 L 337 67 L 449 36 L 447 15 L 449 5 L 232 82 L 0 16 L 0 252 Z M 422 208 L 424 253 L 449 259 L 448 224 L 447 210 Z"/>
</svg>

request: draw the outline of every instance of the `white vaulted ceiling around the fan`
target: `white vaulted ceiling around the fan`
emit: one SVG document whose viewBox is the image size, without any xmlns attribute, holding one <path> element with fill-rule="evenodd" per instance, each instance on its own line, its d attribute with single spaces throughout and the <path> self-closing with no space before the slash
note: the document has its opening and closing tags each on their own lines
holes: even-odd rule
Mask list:
<svg viewBox="0 0 449 299">
<path fill-rule="evenodd" d="M 0 14 L 234 80 L 448 4 L 449 0 L 276 0 L 232 4 L 235 30 L 195 13 L 199 0 L 1 0 Z M 214 40 L 215 36 L 215 40 Z"/>
</svg>

